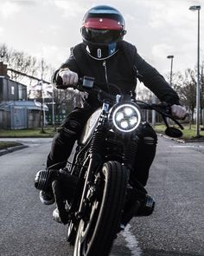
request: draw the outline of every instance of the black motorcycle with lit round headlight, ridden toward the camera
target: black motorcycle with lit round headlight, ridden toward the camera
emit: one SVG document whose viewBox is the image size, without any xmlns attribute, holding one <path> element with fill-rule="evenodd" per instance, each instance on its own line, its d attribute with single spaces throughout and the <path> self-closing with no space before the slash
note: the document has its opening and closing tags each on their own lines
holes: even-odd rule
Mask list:
<svg viewBox="0 0 204 256">
<path fill-rule="evenodd" d="M 143 109 L 156 110 L 163 116 L 166 135 L 182 136 L 180 129 L 169 127 L 167 118 L 183 127 L 170 115 L 167 103 L 136 101 L 132 95 L 123 95 L 118 87 L 118 95 L 108 94 L 87 76 L 74 89 L 97 95 L 102 107 L 86 122 L 73 161 L 60 170 L 56 164 L 39 172 L 35 187 L 46 190 L 52 184 L 59 191 L 55 200 L 60 221 L 67 224 L 67 241 L 74 246 L 73 256 L 105 256 L 117 233 L 136 212 L 139 215 L 139 201 L 134 202 L 134 209 L 128 207 L 128 202 L 133 191 L 130 174 L 137 155 Z M 74 185 L 72 189 L 67 186 L 63 194 L 61 187 L 65 188 L 70 178 Z M 143 215 L 150 215 L 155 202 L 140 188 L 144 195 Z"/>
</svg>

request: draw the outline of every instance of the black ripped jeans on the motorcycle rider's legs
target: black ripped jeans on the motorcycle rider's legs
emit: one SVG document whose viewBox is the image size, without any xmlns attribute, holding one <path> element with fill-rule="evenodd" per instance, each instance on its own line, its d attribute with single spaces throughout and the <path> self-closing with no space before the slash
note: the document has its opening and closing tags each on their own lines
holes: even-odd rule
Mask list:
<svg viewBox="0 0 204 256">
<path fill-rule="evenodd" d="M 75 108 L 61 124 L 54 136 L 51 151 L 48 154 L 47 167 L 61 162 L 60 167 L 65 167 L 67 159 L 72 152 L 75 141 L 79 138 L 87 119 L 95 108 Z M 146 185 L 149 170 L 156 154 L 157 136 L 147 122 L 143 122 L 143 132 L 138 144 L 137 161 L 134 167 L 133 180 L 136 179 L 143 186 Z"/>
</svg>

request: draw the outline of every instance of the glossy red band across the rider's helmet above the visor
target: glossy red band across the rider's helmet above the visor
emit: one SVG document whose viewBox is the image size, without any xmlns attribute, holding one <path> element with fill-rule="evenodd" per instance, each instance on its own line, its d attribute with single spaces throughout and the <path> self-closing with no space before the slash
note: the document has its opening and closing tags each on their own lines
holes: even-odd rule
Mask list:
<svg viewBox="0 0 204 256">
<path fill-rule="evenodd" d="M 123 25 L 110 18 L 90 17 L 83 23 L 84 28 L 95 30 L 123 30 Z"/>
</svg>

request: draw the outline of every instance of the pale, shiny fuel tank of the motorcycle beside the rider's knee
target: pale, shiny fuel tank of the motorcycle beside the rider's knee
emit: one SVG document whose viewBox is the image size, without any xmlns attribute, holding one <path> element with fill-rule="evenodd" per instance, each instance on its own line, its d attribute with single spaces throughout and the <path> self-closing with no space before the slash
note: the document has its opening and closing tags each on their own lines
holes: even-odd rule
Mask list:
<svg viewBox="0 0 204 256">
<path fill-rule="evenodd" d="M 97 121 L 99 119 L 99 115 L 102 111 L 102 108 L 97 108 L 95 112 L 89 117 L 88 121 L 86 122 L 85 128 L 80 136 L 78 143 L 80 145 L 85 145 L 87 141 L 90 140 L 92 134 L 97 126 Z"/>
</svg>

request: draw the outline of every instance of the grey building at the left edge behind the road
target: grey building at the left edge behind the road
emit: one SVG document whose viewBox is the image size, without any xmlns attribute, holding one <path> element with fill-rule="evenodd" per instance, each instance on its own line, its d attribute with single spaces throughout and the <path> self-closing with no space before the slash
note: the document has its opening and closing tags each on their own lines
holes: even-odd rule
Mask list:
<svg viewBox="0 0 204 256">
<path fill-rule="evenodd" d="M 41 102 L 28 101 L 27 86 L 10 80 L 7 66 L 0 62 L 0 128 L 20 129 L 41 127 Z"/>
</svg>

